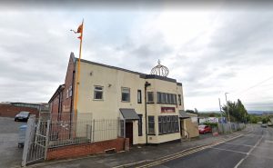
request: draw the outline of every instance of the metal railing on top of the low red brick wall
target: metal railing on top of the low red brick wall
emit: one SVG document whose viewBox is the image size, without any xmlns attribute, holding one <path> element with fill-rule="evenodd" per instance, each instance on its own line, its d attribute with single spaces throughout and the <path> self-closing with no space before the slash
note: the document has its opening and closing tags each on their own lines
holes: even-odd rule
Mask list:
<svg viewBox="0 0 273 168">
<path fill-rule="evenodd" d="M 77 143 L 95 143 L 116 139 L 120 134 L 118 119 L 92 120 L 92 114 L 52 115 L 48 147 Z"/>
</svg>

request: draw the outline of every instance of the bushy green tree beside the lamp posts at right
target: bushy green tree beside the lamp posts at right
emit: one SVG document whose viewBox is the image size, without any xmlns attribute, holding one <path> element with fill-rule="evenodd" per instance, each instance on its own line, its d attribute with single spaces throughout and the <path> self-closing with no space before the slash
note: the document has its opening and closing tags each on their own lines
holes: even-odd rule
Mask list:
<svg viewBox="0 0 273 168">
<path fill-rule="evenodd" d="M 244 104 L 238 99 L 237 102 L 227 102 L 228 113 L 230 115 L 231 122 L 241 122 L 245 123 L 248 120 L 248 111 L 246 110 Z M 223 106 L 223 111 L 227 114 L 227 105 Z"/>
</svg>

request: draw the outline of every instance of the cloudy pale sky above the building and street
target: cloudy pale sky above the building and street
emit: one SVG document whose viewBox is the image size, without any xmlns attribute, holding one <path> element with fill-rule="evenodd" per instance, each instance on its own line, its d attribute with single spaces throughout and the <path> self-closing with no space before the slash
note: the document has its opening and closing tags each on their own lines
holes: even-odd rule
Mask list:
<svg viewBox="0 0 273 168">
<path fill-rule="evenodd" d="M 48 102 L 78 56 L 70 29 L 84 18 L 83 59 L 146 74 L 160 59 L 186 109 L 219 111 L 228 93 L 273 110 L 271 4 L 49 2 L 0 5 L 0 102 Z"/>
</svg>

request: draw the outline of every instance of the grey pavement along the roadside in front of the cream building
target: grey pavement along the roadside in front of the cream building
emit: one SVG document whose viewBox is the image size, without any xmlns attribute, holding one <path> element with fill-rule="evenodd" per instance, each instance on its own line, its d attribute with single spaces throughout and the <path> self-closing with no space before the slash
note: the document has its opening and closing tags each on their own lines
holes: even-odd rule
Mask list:
<svg viewBox="0 0 273 168">
<path fill-rule="evenodd" d="M 76 167 L 136 167 L 138 163 L 151 163 L 160 157 L 172 155 L 174 153 L 181 153 L 188 148 L 196 148 L 197 146 L 207 143 L 217 143 L 219 141 L 226 141 L 232 137 L 247 133 L 248 130 L 236 133 L 229 133 L 218 136 L 211 136 L 207 134 L 200 136 L 190 142 L 174 142 L 163 143 L 157 146 L 134 146 L 126 153 L 91 155 L 78 159 L 68 159 L 62 161 L 51 161 L 45 163 L 37 163 L 29 167 L 43 167 L 43 168 L 76 168 Z"/>
</svg>

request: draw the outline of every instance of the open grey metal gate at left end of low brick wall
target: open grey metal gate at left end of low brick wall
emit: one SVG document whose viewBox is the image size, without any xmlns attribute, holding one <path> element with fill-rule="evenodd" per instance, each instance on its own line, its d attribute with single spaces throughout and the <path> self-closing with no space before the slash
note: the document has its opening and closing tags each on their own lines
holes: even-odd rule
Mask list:
<svg viewBox="0 0 273 168">
<path fill-rule="evenodd" d="M 35 117 L 30 117 L 28 119 L 25 133 L 22 166 L 45 160 L 45 153 L 48 144 L 49 124 L 50 120 L 39 120 L 38 124 L 35 124 Z"/>
</svg>

